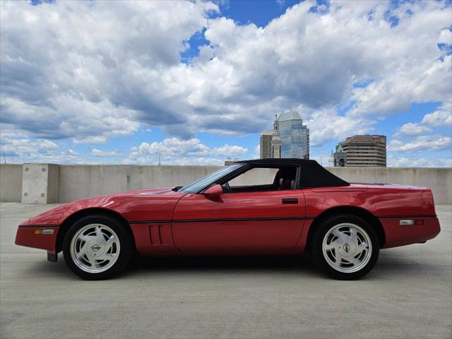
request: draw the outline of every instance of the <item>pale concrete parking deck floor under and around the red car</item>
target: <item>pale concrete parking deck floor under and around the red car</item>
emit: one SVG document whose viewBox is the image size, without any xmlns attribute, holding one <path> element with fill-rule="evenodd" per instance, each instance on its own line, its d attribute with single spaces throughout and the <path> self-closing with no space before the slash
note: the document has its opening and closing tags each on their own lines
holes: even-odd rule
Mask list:
<svg viewBox="0 0 452 339">
<path fill-rule="evenodd" d="M 142 259 L 83 281 L 59 255 L 14 245 L 19 222 L 52 205 L 1 203 L 0 337 L 451 338 L 451 206 L 427 244 L 381 251 L 358 281 L 300 258 Z"/>
</svg>

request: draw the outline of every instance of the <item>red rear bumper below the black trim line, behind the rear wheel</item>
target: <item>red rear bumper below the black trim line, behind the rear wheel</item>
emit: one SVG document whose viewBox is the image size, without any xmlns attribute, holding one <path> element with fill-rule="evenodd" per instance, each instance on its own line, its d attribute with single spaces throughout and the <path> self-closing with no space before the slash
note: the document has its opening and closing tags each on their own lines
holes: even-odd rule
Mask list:
<svg viewBox="0 0 452 339">
<path fill-rule="evenodd" d="M 400 220 L 423 220 L 424 225 L 399 225 Z M 436 217 L 379 218 L 386 236 L 384 249 L 389 247 L 417 244 L 433 239 L 441 231 Z"/>
</svg>

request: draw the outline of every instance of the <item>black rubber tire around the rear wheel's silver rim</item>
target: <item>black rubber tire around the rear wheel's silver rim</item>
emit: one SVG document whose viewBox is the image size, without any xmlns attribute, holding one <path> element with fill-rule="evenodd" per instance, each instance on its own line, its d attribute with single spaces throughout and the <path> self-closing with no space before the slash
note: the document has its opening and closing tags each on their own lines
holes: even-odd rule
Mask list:
<svg viewBox="0 0 452 339">
<path fill-rule="evenodd" d="M 358 228 L 361 229 L 361 230 L 359 230 L 361 235 L 363 235 L 362 232 L 365 232 L 365 234 L 367 234 L 368 239 L 370 239 L 371 253 L 367 254 L 367 256 L 364 256 L 365 254 L 363 254 L 363 256 L 366 259 L 363 260 L 362 263 L 360 263 L 359 265 L 356 265 L 355 268 L 353 268 L 351 266 L 352 263 L 348 263 L 348 261 L 341 261 L 341 260 L 339 260 L 339 265 L 338 265 L 340 267 L 335 268 L 333 260 L 331 259 L 332 258 L 331 252 L 329 252 L 330 257 L 328 258 L 327 257 L 328 253 L 324 253 L 324 251 L 323 251 L 323 239 L 325 239 L 326 234 L 328 234 L 330 232 L 330 230 L 333 230 L 333 228 L 337 227 L 340 224 L 356 225 L 356 226 L 358 226 Z M 345 228 L 339 228 L 339 230 L 347 230 L 347 226 L 345 226 Z M 328 234 L 328 237 L 330 237 L 329 234 Z M 334 236 L 332 236 L 332 237 L 334 237 Z M 332 278 L 339 279 L 339 280 L 355 280 L 355 279 L 362 278 L 364 275 L 367 275 L 367 273 L 369 273 L 372 268 L 374 268 L 375 263 L 379 258 L 380 244 L 379 244 L 379 238 L 377 237 L 375 230 L 373 229 L 373 227 L 371 227 L 371 225 L 369 225 L 369 223 L 366 220 L 359 218 L 356 215 L 333 215 L 332 217 L 324 220 L 321 223 L 321 225 L 319 227 L 317 227 L 316 230 L 314 230 L 310 243 L 311 243 L 311 249 L 310 249 L 311 250 L 311 258 L 314 261 L 314 263 L 316 264 L 316 266 L 319 266 L 319 268 L 321 268 L 326 273 L 328 273 L 328 275 L 330 275 Z M 346 244 L 347 244 L 347 242 L 346 242 Z M 352 249 L 350 249 L 350 245 L 352 246 Z M 348 248 L 347 254 L 349 253 L 349 251 L 350 251 L 350 254 L 357 253 L 356 252 L 357 247 L 355 246 L 355 243 L 350 244 L 350 245 L 347 246 L 347 248 Z M 342 247 L 343 247 L 342 249 L 340 249 L 340 246 L 338 248 L 340 249 L 340 251 L 342 251 L 341 253 L 344 254 L 345 246 L 343 245 Z M 338 250 L 338 249 L 334 249 L 333 254 L 335 253 L 334 252 L 335 250 Z M 354 251 L 354 252 L 352 252 L 352 251 Z M 350 255 L 350 254 L 349 254 L 349 257 L 351 259 L 353 259 L 352 255 Z M 358 255 L 358 258 L 360 258 L 359 255 Z M 331 264 L 328 263 L 328 261 Z M 362 266 L 360 267 L 360 265 L 362 265 Z M 337 266 L 337 263 L 336 263 L 336 266 Z M 341 271 L 341 270 L 353 270 L 353 269 L 357 269 L 357 268 L 359 268 L 359 269 L 355 270 L 355 271 L 350 271 L 350 272 Z"/>
</svg>

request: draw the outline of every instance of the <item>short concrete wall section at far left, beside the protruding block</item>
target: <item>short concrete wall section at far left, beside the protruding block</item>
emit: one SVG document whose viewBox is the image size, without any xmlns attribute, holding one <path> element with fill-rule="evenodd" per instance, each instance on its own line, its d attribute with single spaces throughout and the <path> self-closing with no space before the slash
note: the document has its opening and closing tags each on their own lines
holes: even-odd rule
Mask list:
<svg viewBox="0 0 452 339">
<path fill-rule="evenodd" d="M 0 201 L 20 201 L 22 168 L 22 165 L 0 165 Z"/>
</svg>

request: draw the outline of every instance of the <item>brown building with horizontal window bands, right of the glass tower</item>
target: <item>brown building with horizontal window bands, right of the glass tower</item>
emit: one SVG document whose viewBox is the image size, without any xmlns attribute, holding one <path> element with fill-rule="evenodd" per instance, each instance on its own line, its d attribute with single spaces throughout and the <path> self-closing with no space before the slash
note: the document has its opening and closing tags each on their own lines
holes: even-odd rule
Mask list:
<svg viewBox="0 0 452 339">
<path fill-rule="evenodd" d="M 386 167 L 386 136 L 350 136 L 333 156 L 335 167 Z"/>
</svg>

